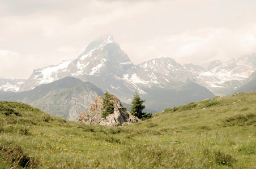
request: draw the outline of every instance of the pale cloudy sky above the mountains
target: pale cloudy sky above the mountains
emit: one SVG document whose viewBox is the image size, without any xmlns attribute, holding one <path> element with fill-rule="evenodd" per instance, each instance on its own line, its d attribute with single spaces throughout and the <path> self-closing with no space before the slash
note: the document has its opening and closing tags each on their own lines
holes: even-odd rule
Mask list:
<svg viewBox="0 0 256 169">
<path fill-rule="evenodd" d="M 73 60 L 110 33 L 135 64 L 256 52 L 255 0 L 0 0 L 0 77 Z"/>
</svg>

